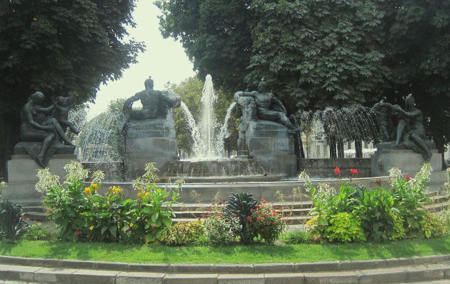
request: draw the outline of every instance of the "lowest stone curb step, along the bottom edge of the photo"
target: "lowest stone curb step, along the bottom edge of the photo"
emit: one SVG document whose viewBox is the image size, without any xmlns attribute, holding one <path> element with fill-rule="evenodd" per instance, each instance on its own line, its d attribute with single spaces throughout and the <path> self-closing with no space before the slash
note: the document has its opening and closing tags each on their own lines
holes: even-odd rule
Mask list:
<svg viewBox="0 0 450 284">
<path fill-rule="evenodd" d="M 58 284 L 375 284 L 450 278 L 450 263 L 311 273 L 143 273 L 0 265 L 0 280 Z"/>
</svg>

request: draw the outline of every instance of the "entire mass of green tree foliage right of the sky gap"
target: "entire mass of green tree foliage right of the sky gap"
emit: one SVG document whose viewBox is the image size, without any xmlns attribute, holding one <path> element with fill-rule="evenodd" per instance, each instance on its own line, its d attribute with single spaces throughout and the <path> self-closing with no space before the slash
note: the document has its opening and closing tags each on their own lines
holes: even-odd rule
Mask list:
<svg viewBox="0 0 450 284">
<path fill-rule="evenodd" d="M 412 92 L 439 148 L 450 141 L 449 1 L 157 3 L 163 35 L 181 40 L 200 74 L 225 76 L 227 89 L 264 77 L 290 111 L 403 103 Z"/>
</svg>

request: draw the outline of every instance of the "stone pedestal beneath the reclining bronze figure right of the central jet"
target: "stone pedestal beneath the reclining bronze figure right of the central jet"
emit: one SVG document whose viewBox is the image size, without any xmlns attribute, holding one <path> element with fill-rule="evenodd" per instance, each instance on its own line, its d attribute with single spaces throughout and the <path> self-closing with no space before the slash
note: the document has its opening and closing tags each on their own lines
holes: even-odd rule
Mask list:
<svg viewBox="0 0 450 284">
<path fill-rule="evenodd" d="M 273 121 L 247 121 L 241 124 L 237 141 L 239 155 L 259 160 L 267 173 L 297 174 L 294 138 L 282 124 Z"/>
</svg>

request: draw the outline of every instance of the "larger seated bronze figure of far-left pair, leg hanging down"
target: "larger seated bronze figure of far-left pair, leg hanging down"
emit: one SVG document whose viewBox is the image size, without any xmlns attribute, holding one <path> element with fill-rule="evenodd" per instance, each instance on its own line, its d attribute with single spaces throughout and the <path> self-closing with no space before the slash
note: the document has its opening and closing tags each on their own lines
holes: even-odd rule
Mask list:
<svg viewBox="0 0 450 284">
<path fill-rule="evenodd" d="M 65 136 L 58 120 L 51 115 L 54 106 L 44 108 L 39 105 L 43 100 L 44 94 L 35 92 L 21 109 L 21 141 L 43 143 L 36 156 L 30 153 L 42 167 L 48 162 L 48 149 L 53 145 L 55 138 L 61 138 L 67 145 L 74 146 Z"/>
</svg>

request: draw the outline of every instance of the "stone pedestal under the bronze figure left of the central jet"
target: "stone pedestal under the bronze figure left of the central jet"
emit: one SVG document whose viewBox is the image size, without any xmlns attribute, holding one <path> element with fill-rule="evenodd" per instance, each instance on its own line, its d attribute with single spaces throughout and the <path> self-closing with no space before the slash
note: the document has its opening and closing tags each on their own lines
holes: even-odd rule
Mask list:
<svg viewBox="0 0 450 284">
<path fill-rule="evenodd" d="M 162 175 L 167 170 L 168 161 L 178 159 L 171 114 L 168 114 L 166 119 L 129 121 L 126 137 L 126 180 L 133 180 L 144 174 L 146 163 L 156 163 L 156 168 Z"/>
</svg>

